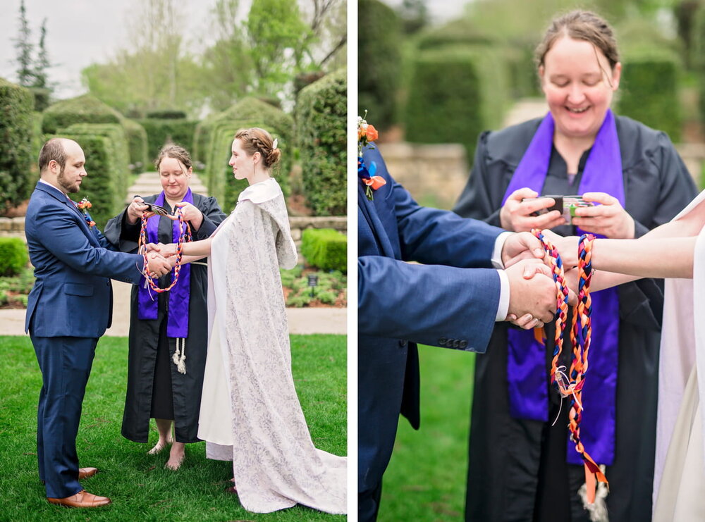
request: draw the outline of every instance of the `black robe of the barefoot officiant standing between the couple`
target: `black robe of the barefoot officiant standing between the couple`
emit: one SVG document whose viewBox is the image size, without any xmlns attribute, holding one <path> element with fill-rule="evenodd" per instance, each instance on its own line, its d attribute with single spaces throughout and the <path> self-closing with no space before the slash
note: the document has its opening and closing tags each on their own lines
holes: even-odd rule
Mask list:
<svg viewBox="0 0 705 522">
<path fill-rule="evenodd" d="M 189 165 L 190 168 L 190 165 Z M 190 176 L 189 176 L 190 178 Z M 181 188 L 188 191 L 192 205 L 202 213 L 202 222 L 196 228 L 191 226 L 192 240 L 202 240 L 216 230 L 226 218 L 214 197 L 195 194 L 188 188 L 188 179 L 181 178 Z M 162 180 L 164 192 L 144 197 L 147 203 L 155 203 L 169 212 L 175 208 L 169 204 L 168 182 Z M 176 190 L 176 189 L 174 189 Z M 178 198 L 177 198 L 178 199 Z M 180 199 L 178 199 L 180 201 Z M 129 209 L 129 207 L 128 207 Z M 128 209 L 109 220 L 105 235 L 121 251 L 136 251 L 140 236 L 140 220 L 130 224 Z M 166 216 L 152 216 L 150 221 L 158 220 L 155 228 L 159 242 L 174 242 L 174 221 Z M 148 239 L 152 241 L 154 238 Z M 152 241 L 153 242 L 153 241 Z M 184 268 L 180 273 L 180 282 L 184 277 Z M 128 385 L 125 397 L 122 434 L 135 442 L 148 442 L 149 419 L 173 419 L 176 442 L 198 442 L 198 416 L 200 411 L 203 373 L 207 353 L 208 318 L 208 267 L 207 259 L 189 263 L 188 288 L 188 337 L 185 338 L 185 373 L 181 373 L 173 361 L 177 349 L 177 339 L 168 335 L 168 311 L 173 308 L 169 299 L 176 290 L 169 292 L 151 292 L 157 301 L 155 318 L 140 318 L 140 287 L 134 285 L 130 299 L 130 354 L 128 360 Z M 159 287 L 171 284 L 173 272 L 159 279 Z M 177 285 L 180 284 L 177 283 Z M 173 310 L 172 310 L 173 312 Z M 185 313 L 182 311 L 181 313 Z M 161 449 L 161 448 L 159 448 Z M 178 467 L 178 466 L 176 466 Z"/>
</svg>

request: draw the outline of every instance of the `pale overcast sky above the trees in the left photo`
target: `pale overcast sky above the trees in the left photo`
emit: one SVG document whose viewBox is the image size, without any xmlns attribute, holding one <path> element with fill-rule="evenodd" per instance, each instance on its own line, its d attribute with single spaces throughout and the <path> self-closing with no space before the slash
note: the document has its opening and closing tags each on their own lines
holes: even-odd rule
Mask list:
<svg viewBox="0 0 705 522">
<path fill-rule="evenodd" d="M 80 71 L 91 63 L 104 63 L 118 49 L 128 47 L 126 22 L 140 0 L 25 0 L 31 42 L 39 43 L 39 27 L 47 18 L 47 49 L 56 67 L 49 80 L 58 82 L 55 97 L 85 92 Z M 180 0 L 186 25 L 183 35 L 192 46 L 207 39 L 209 10 L 215 0 Z M 247 0 L 242 4 L 250 4 Z M 243 6 L 241 6 L 243 7 Z M 20 0 L 0 0 L 0 77 L 17 81 L 14 39 L 19 34 Z"/>
</svg>

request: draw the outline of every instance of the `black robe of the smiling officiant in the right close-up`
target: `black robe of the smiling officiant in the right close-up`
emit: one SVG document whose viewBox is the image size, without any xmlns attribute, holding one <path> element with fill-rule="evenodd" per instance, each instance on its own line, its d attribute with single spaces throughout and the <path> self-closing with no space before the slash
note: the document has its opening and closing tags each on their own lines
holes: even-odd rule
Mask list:
<svg viewBox="0 0 705 522">
<path fill-rule="evenodd" d="M 615 120 L 625 209 L 635 220 L 635 236 L 641 237 L 673 218 L 695 197 L 697 189 L 666 134 L 623 116 Z M 479 137 L 470 179 L 453 209 L 456 213 L 500 226 L 502 199 L 539 123 L 541 118 Z M 588 156 L 586 151 L 571 184 L 565 161 L 554 147 L 541 194 L 576 194 Z M 571 225 L 557 227 L 554 232 L 576 233 Z M 615 459 L 607 467 L 610 492 L 606 499 L 611 521 L 651 519 L 662 289 L 663 282 L 653 279 L 618 287 Z M 550 344 L 553 328 L 546 326 Z M 559 408 L 558 394 L 547 380 L 548 423 L 510 416 L 508 328 L 515 327 L 497 323 L 486 354 L 476 359 L 465 519 L 588 521 L 588 512 L 577 495 L 584 483 L 583 467 L 565 461 L 569 403 Z M 546 350 L 547 369 L 551 352 L 552 344 Z M 570 356 L 569 352 L 570 347 L 564 344 L 563 353 Z M 551 427 L 559 409 L 560 418 Z"/>
</svg>

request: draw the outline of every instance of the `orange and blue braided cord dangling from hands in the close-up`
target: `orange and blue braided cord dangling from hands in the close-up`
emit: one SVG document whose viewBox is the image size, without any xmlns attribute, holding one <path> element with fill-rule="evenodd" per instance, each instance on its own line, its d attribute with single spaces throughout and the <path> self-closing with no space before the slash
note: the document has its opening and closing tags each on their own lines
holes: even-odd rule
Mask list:
<svg viewBox="0 0 705 522">
<path fill-rule="evenodd" d="M 541 230 L 534 229 L 532 234 L 536 236 L 551 260 L 553 268 L 553 280 L 556 282 L 556 293 L 558 299 L 558 311 L 556 313 L 556 335 L 553 348 L 553 360 L 551 361 L 551 384 L 563 397 L 570 397 L 570 411 L 568 412 L 568 429 L 570 430 L 570 440 L 575 443 L 577 451 L 584 462 L 585 484 L 587 487 L 587 501 L 592 504 L 595 500 L 597 481 L 609 484 L 607 478 L 602 473 L 600 467 L 592 457 L 585 451 L 580 440 L 580 421 L 582 421 L 582 388 L 585 383 L 585 374 L 588 368 L 588 353 L 592 335 L 590 316 L 592 313 L 592 299 L 590 297 L 590 280 L 592 277 L 592 244 L 594 235 L 584 234 L 578 242 L 578 303 L 573 309 L 572 325 L 570 330 L 570 340 L 572 344 L 573 359 L 570 363 L 568 378 L 565 372 L 558 366 L 560 353 L 563 350 L 563 330 L 565 330 L 565 319 L 568 311 L 568 285 L 565 285 L 563 273 L 563 263 L 560 260 L 558 250 L 553 247 Z M 578 323 L 580 319 L 580 323 Z M 540 334 L 537 333 L 540 331 Z M 546 336 L 543 328 L 535 329 L 534 335 L 539 342 L 544 341 Z"/>
</svg>

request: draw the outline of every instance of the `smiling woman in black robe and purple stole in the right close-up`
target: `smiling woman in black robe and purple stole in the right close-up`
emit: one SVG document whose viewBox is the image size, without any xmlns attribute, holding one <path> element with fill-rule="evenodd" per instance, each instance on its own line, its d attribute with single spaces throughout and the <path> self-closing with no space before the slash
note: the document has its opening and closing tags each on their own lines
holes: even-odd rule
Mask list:
<svg viewBox="0 0 705 522">
<path fill-rule="evenodd" d="M 527 204 L 520 197 L 512 202 L 512 194 L 517 193 L 513 191 L 529 187 L 541 195 L 582 194 L 591 161 L 590 186 L 611 182 L 609 186 L 620 193 L 619 197 L 611 194 L 611 204 L 617 206 L 623 218 L 626 211 L 626 223 L 631 225 L 633 220 L 629 230 L 632 237 L 666 223 L 697 194 L 666 134 L 609 111 L 621 66 L 611 33 L 601 42 L 593 42 L 585 39 L 584 30 L 580 34 L 571 32 L 572 27 L 586 25 L 597 27 L 596 32 L 611 31 L 593 13 L 577 11 L 554 20 L 544 44 L 537 48 L 539 76 L 550 112 L 546 118 L 484 132 L 479 137 L 470 179 L 453 209 L 460 216 L 516 230 L 508 223 L 519 221 L 508 220 L 507 210 L 501 214 L 505 205 L 517 208 Z M 545 137 L 541 151 L 535 143 L 539 135 Z M 570 145 L 575 144 L 571 139 L 578 147 L 571 149 Z M 565 151 L 572 154 L 564 154 Z M 599 164 L 608 168 L 595 167 L 599 160 L 595 156 L 599 155 L 606 157 Z M 606 180 L 608 177 L 612 179 Z M 592 188 L 585 192 L 612 190 Z M 560 216 L 554 219 L 560 220 Z M 560 235 L 581 233 L 570 224 L 556 226 L 553 231 Z M 606 323 L 606 329 L 613 330 L 614 344 L 607 347 L 593 340 L 590 349 L 581 437 L 584 439 L 595 429 L 599 432 L 596 439 L 607 447 L 602 456 L 596 456 L 592 450 L 598 444 L 585 443 L 586 451 L 598 464 L 606 464 L 606 509 L 610 521 L 651 520 L 662 290 L 662 281 L 653 279 L 620 285 L 612 299 L 614 314 Z M 602 293 L 595 292 L 594 301 Z M 594 314 L 600 313 L 600 308 L 595 305 Z M 561 406 L 560 396 L 548 378 L 554 330 L 553 325 L 546 327 L 547 346 L 537 353 L 537 366 L 531 371 L 521 366 L 527 352 L 513 352 L 512 339 L 517 329 L 506 323 L 497 323 L 487 353 L 476 359 L 467 521 L 589 520 L 579 494 L 585 482 L 583 466 L 569 464 L 571 459 L 580 460 L 568 438 L 570 399 Z M 599 335 L 599 330 L 593 321 L 593 337 Z M 570 368 L 571 352 L 566 331 L 560 361 L 565 368 Z M 600 352 L 613 358 L 608 371 L 595 366 L 603 356 Z M 518 356 L 513 355 L 517 353 Z M 527 394 L 517 393 L 532 378 L 537 379 L 543 395 L 534 414 L 526 411 L 534 407 Z M 587 390 L 588 386 L 591 390 Z M 589 395 L 594 390 L 608 390 L 607 398 L 591 399 Z M 607 427 L 594 428 L 589 415 L 605 416 Z"/>
</svg>

